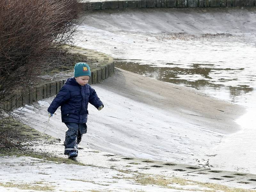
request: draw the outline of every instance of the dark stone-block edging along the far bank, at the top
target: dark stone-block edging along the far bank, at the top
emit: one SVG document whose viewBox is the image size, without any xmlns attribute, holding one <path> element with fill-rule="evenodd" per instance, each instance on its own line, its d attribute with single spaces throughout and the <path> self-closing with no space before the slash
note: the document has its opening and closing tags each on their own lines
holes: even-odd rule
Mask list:
<svg viewBox="0 0 256 192">
<path fill-rule="evenodd" d="M 256 0 L 127 0 L 81 3 L 84 10 L 173 7 L 255 7 Z"/>
</svg>

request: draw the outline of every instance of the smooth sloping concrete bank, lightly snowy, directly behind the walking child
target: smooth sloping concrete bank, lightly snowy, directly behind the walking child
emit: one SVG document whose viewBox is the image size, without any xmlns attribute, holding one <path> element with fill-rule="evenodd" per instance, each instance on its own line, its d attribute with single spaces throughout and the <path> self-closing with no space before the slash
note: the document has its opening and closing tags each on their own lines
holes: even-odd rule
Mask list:
<svg viewBox="0 0 256 192">
<path fill-rule="evenodd" d="M 100 112 L 89 107 L 88 132 L 83 136 L 82 148 L 212 168 L 221 165 L 228 171 L 244 171 L 250 165 L 250 172 L 255 172 L 253 164 L 237 162 L 236 154 L 223 164 L 211 150 L 240 130 L 235 119 L 245 112 L 241 106 L 124 70 L 117 70 L 92 87 L 105 107 Z M 52 100 L 39 101 L 40 108 L 26 106 L 24 119 L 30 120 L 30 126 L 44 131 Z M 63 141 L 66 130 L 58 109 L 46 133 Z M 227 147 L 219 153 L 225 153 Z M 246 156 L 254 158 L 253 154 Z"/>
</svg>

